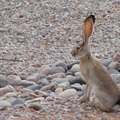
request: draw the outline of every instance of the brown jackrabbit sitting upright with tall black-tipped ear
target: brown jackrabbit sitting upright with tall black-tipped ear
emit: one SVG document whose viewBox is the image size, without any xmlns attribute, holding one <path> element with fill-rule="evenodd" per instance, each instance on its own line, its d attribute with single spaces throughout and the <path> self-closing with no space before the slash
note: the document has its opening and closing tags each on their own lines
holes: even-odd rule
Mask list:
<svg viewBox="0 0 120 120">
<path fill-rule="evenodd" d="M 86 80 L 81 102 L 92 100 L 92 105 L 103 111 L 110 111 L 120 99 L 120 89 L 104 69 L 102 64 L 90 52 L 88 38 L 92 34 L 95 16 L 90 15 L 83 25 L 83 41 L 74 47 L 72 56 L 80 59 L 80 70 Z"/>
</svg>

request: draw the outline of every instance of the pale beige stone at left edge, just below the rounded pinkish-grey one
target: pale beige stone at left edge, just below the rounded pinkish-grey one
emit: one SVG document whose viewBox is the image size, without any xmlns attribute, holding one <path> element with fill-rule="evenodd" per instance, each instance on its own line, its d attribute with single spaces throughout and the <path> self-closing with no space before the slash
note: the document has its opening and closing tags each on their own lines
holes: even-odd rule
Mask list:
<svg viewBox="0 0 120 120">
<path fill-rule="evenodd" d="M 3 96 L 9 92 L 16 92 L 16 90 L 11 85 L 0 88 L 0 96 Z"/>
</svg>

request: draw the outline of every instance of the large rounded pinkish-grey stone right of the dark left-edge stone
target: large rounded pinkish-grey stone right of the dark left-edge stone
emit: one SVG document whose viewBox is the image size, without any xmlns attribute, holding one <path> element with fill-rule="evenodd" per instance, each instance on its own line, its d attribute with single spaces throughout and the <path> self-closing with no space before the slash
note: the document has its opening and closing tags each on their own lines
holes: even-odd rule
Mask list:
<svg viewBox="0 0 120 120">
<path fill-rule="evenodd" d="M 9 81 L 10 85 L 21 85 L 22 83 L 21 78 L 16 75 L 8 75 L 7 80 Z"/>
</svg>

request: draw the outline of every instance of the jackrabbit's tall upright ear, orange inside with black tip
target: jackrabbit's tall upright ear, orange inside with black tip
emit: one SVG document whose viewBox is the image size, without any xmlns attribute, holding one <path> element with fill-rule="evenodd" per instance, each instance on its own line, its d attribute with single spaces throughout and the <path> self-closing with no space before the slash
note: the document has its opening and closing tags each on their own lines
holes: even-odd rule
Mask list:
<svg viewBox="0 0 120 120">
<path fill-rule="evenodd" d="M 95 23 L 94 15 L 90 15 L 85 19 L 84 25 L 83 25 L 83 41 L 84 42 L 88 41 L 88 38 L 92 34 L 94 23 Z"/>
</svg>

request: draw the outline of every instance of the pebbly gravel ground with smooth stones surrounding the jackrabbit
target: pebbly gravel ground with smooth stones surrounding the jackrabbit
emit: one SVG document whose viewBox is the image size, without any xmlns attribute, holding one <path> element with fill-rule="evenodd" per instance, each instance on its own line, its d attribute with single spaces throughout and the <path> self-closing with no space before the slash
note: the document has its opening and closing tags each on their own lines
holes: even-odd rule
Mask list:
<svg viewBox="0 0 120 120">
<path fill-rule="evenodd" d="M 80 104 L 85 82 L 70 54 L 81 40 L 83 20 L 94 14 L 91 51 L 120 84 L 119 4 L 1 0 L 0 120 L 119 120 L 120 112 Z"/>
</svg>

